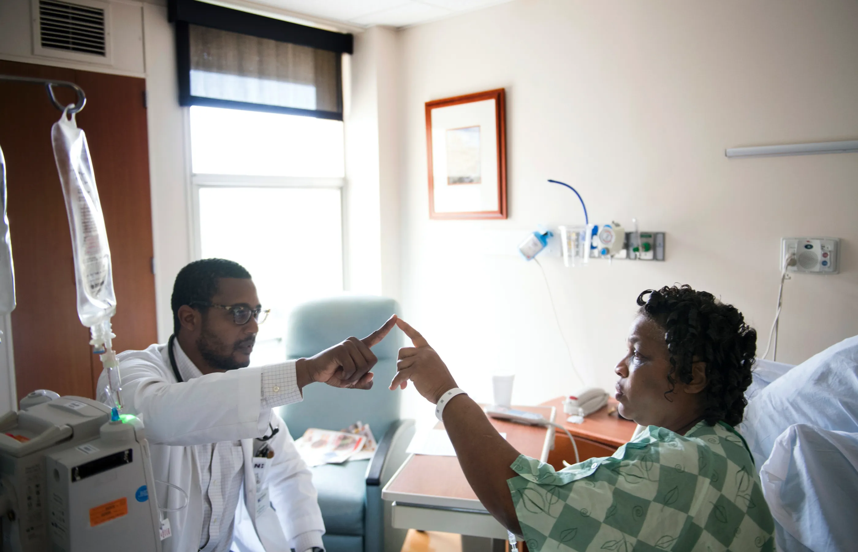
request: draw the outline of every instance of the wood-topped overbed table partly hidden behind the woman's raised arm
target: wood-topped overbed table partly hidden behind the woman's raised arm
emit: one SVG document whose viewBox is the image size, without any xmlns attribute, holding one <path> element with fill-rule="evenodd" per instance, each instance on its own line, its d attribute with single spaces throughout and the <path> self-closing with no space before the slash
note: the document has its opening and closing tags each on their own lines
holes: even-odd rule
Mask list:
<svg viewBox="0 0 858 552">
<path fill-rule="evenodd" d="M 556 416 L 552 406 L 515 408 L 541 414 L 551 421 Z M 489 420 L 498 432 L 506 434 L 506 440 L 517 451 L 543 462 L 547 460 L 553 441 L 551 428 Z M 444 425 L 438 423 L 435 427 Z M 392 525 L 396 528 L 506 538 L 506 530 L 477 499 L 456 457 L 411 455 L 390 478 L 381 495 L 393 502 Z"/>
</svg>

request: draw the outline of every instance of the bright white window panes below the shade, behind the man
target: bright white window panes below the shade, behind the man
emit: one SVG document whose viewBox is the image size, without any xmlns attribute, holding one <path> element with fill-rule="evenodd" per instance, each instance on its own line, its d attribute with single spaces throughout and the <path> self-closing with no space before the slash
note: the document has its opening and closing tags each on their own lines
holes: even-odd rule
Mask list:
<svg viewBox="0 0 858 552">
<path fill-rule="evenodd" d="M 245 266 L 271 315 L 253 365 L 285 358 L 293 306 L 343 288 L 342 122 L 190 107 L 199 258 Z"/>
</svg>

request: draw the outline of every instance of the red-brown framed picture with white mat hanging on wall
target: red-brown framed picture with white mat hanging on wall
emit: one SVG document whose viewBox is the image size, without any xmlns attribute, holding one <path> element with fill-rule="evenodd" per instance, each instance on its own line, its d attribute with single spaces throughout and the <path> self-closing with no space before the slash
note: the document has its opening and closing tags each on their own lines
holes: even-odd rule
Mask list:
<svg viewBox="0 0 858 552">
<path fill-rule="evenodd" d="M 426 102 L 429 217 L 506 218 L 504 88 Z"/>
</svg>

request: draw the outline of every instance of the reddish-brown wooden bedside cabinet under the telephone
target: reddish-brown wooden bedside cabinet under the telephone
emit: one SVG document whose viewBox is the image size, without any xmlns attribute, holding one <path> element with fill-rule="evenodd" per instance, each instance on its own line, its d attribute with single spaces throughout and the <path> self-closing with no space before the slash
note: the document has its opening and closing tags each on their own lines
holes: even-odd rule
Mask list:
<svg viewBox="0 0 858 552">
<path fill-rule="evenodd" d="M 617 401 L 613 398 L 607 400 L 607 406 L 584 418 L 583 423 L 566 422 L 566 418 L 569 416 L 563 411 L 563 399 L 564 397 L 553 398 L 542 403 L 542 405 L 557 409 L 557 422 L 575 437 L 578 456 L 582 462 L 587 458 L 611 456 L 620 446 L 625 445 L 631 439 L 631 434 L 637 428 L 635 422 L 623 420 L 617 416 L 615 411 Z M 614 410 L 613 414 L 608 414 L 612 409 Z M 562 470 L 564 460 L 574 464 L 575 452 L 566 434 L 558 431 L 553 451 L 548 455 L 547 462 L 553 465 L 555 470 Z"/>
</svg>

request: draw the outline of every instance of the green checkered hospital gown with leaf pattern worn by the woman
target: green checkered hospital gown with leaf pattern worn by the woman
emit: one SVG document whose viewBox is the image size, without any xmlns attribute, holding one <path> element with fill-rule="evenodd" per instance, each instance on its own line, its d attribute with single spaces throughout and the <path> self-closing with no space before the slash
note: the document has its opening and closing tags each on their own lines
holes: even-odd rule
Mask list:
<svg viewBox="0 0 858 552">
<path fill-rule="evenodd" d="M 508 481 L 531 552 L 774 550 L 774 522 L 744 440 L 700 422 L 650 426 L 612 457 L 564 470 L 519 456 Z"/>
</svg>

